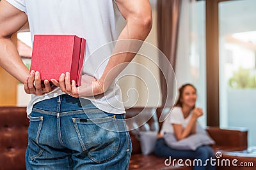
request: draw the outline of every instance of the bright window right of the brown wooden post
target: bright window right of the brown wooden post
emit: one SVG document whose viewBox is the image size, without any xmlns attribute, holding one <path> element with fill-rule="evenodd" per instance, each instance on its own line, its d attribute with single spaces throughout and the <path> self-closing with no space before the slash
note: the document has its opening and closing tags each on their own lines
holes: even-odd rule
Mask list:
<svg viewBox="0 0 256 170">
<path fill-rule="evenodd" d="M 256 145 L 256 1 L 219 3 L 220 126 L 248 128 Z"/>
</svg>

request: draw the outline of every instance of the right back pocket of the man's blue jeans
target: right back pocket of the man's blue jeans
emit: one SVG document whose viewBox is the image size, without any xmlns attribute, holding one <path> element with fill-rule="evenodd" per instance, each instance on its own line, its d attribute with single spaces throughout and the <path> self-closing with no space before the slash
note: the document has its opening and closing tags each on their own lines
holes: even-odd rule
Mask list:
<svg viewBox="0 0 256 170">
<path fill-rule="evenodd" d="M 72 118 L 72 120 L 79 143 L 90 159 L 102 163 L 115 157 L 120 147 L 115 116 L 90 119 Z"/>
</svg>

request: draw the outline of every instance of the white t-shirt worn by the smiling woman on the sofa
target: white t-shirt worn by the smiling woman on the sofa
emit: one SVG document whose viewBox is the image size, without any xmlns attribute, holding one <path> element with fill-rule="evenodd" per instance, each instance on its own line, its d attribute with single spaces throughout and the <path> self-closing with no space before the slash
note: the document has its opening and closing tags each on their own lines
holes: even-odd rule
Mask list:
<svg viewBox="0 0 256 170">
<path fill-rule="evenodd" d="M 184 129 L 191 119 L 192 111 L 189 113 L 188 117 L 184 118 L 181 107 L 175 106 L 162 125 L 160 133 L 163 135 L 164 132 L 174 133 L 172 124 L 180 124 Z"/>
</svg>

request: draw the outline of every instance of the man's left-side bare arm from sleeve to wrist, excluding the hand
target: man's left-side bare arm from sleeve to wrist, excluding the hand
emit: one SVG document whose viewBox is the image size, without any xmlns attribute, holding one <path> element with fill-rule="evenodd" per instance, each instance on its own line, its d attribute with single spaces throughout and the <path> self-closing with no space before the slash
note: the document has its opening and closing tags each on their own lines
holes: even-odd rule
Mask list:
<svg viewBox="0 0 256 170">
<path fill-rule="evenodd" d="M 4 0 L 0 2 L 0 66 L 22 83 L 28 76 L 29 70 L 20 59 L 11 36 L 27 21 L 26 13 Z"/>
</svg>

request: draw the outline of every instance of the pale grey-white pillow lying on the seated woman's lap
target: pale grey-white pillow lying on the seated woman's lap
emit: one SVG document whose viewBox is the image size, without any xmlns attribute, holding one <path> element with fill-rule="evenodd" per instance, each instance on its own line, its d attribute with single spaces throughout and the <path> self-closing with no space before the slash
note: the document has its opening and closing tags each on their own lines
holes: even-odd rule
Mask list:
<svg viewBox="0 0 256 170">
<path fill-rule="evenodd" d="M 215 143 L 207 133 L 191 134 L 187 138 L 177 141 L 175 134 L 165 132 L 164 141 L 170 148 L 177 150 L 196 150 L 199 146 L 213 145 Z"/>
</svg>

